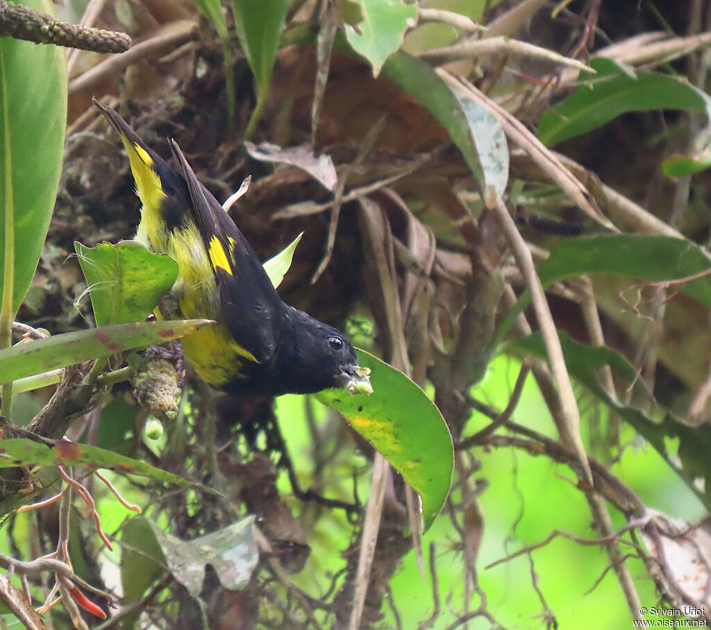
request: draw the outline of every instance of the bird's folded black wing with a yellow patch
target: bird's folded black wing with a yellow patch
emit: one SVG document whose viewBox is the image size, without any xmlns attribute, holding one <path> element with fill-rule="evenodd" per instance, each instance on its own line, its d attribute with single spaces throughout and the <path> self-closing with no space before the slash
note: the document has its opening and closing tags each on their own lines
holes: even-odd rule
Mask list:
<svg viewBox="0 0 711 630">
<path fill-rule="evenodd" d="M 176 141 L 170 146 L 188 185 L 193 218 L 213 266 L 230 332 L 258 362 L 268 362 L 284 334 L 286 306 L 244 234 L 198 181 Z"/>
</svg>

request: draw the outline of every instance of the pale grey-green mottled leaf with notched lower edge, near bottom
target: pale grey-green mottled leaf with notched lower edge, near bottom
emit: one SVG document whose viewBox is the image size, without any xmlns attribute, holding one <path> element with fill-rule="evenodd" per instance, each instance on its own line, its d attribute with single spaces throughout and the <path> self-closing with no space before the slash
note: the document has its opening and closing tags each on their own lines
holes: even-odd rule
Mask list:
<svg viewBox="0 0 711 630">
<path fill-rule="evenodd" d="M 146 519 L 147 520 L 147 519 Z M 217 573 L 229 590 L 247 585 L 260 560 L 255 543 L 254 516 L 209 533 L 193 541 L 183 541 L 148 521 L 164 553 L 170 572 L 193 597 L 198 597 L 205 580 L 205 565 Z"/>
</svg>

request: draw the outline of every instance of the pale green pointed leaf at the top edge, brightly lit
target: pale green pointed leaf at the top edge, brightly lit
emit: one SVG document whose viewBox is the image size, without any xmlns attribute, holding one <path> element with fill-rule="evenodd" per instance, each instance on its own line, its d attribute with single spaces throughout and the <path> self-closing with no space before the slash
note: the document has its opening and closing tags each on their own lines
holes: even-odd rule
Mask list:
<svg viewBox="0 0 711 630">
<path fill-rule="evenodd" d="M 356 0 L 355 4 L 360 5 L 363 21 L 355 27 L 346 23 L 346 37 L 353 50 L 370 61 L 377 77 L 417 18 L 417 6 L 402 4 L 402 0 Z"/>
</svg>

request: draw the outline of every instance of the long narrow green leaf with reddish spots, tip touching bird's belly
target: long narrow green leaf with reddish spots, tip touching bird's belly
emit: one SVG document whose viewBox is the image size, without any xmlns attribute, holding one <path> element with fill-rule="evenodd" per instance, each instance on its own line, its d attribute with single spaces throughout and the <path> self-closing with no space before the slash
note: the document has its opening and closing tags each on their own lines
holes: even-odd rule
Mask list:
<svg viewBox="0 0 711 630">
<path fill-rule="evenodd" d="M 137 322 L 65 332 L 0 350 L 0 384 L 190 335 L 210 320 Z"/>
</svg>

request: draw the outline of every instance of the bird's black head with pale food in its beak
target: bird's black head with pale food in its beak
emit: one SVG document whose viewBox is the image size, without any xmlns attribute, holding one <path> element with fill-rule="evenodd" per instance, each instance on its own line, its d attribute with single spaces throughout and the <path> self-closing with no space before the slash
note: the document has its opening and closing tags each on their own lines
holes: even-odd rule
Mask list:
<svg viewBox="0 0 711 630">
<path fill-rule="evenodd" d="M 280 381 L 291 393 L 315 393 L 329 387 L 370 393 L 370 379 L 358 366 L 355 348 L 343 332 L 311 315 L 289 308 L 289 339 L 282 342 Z"/>
</svg>

